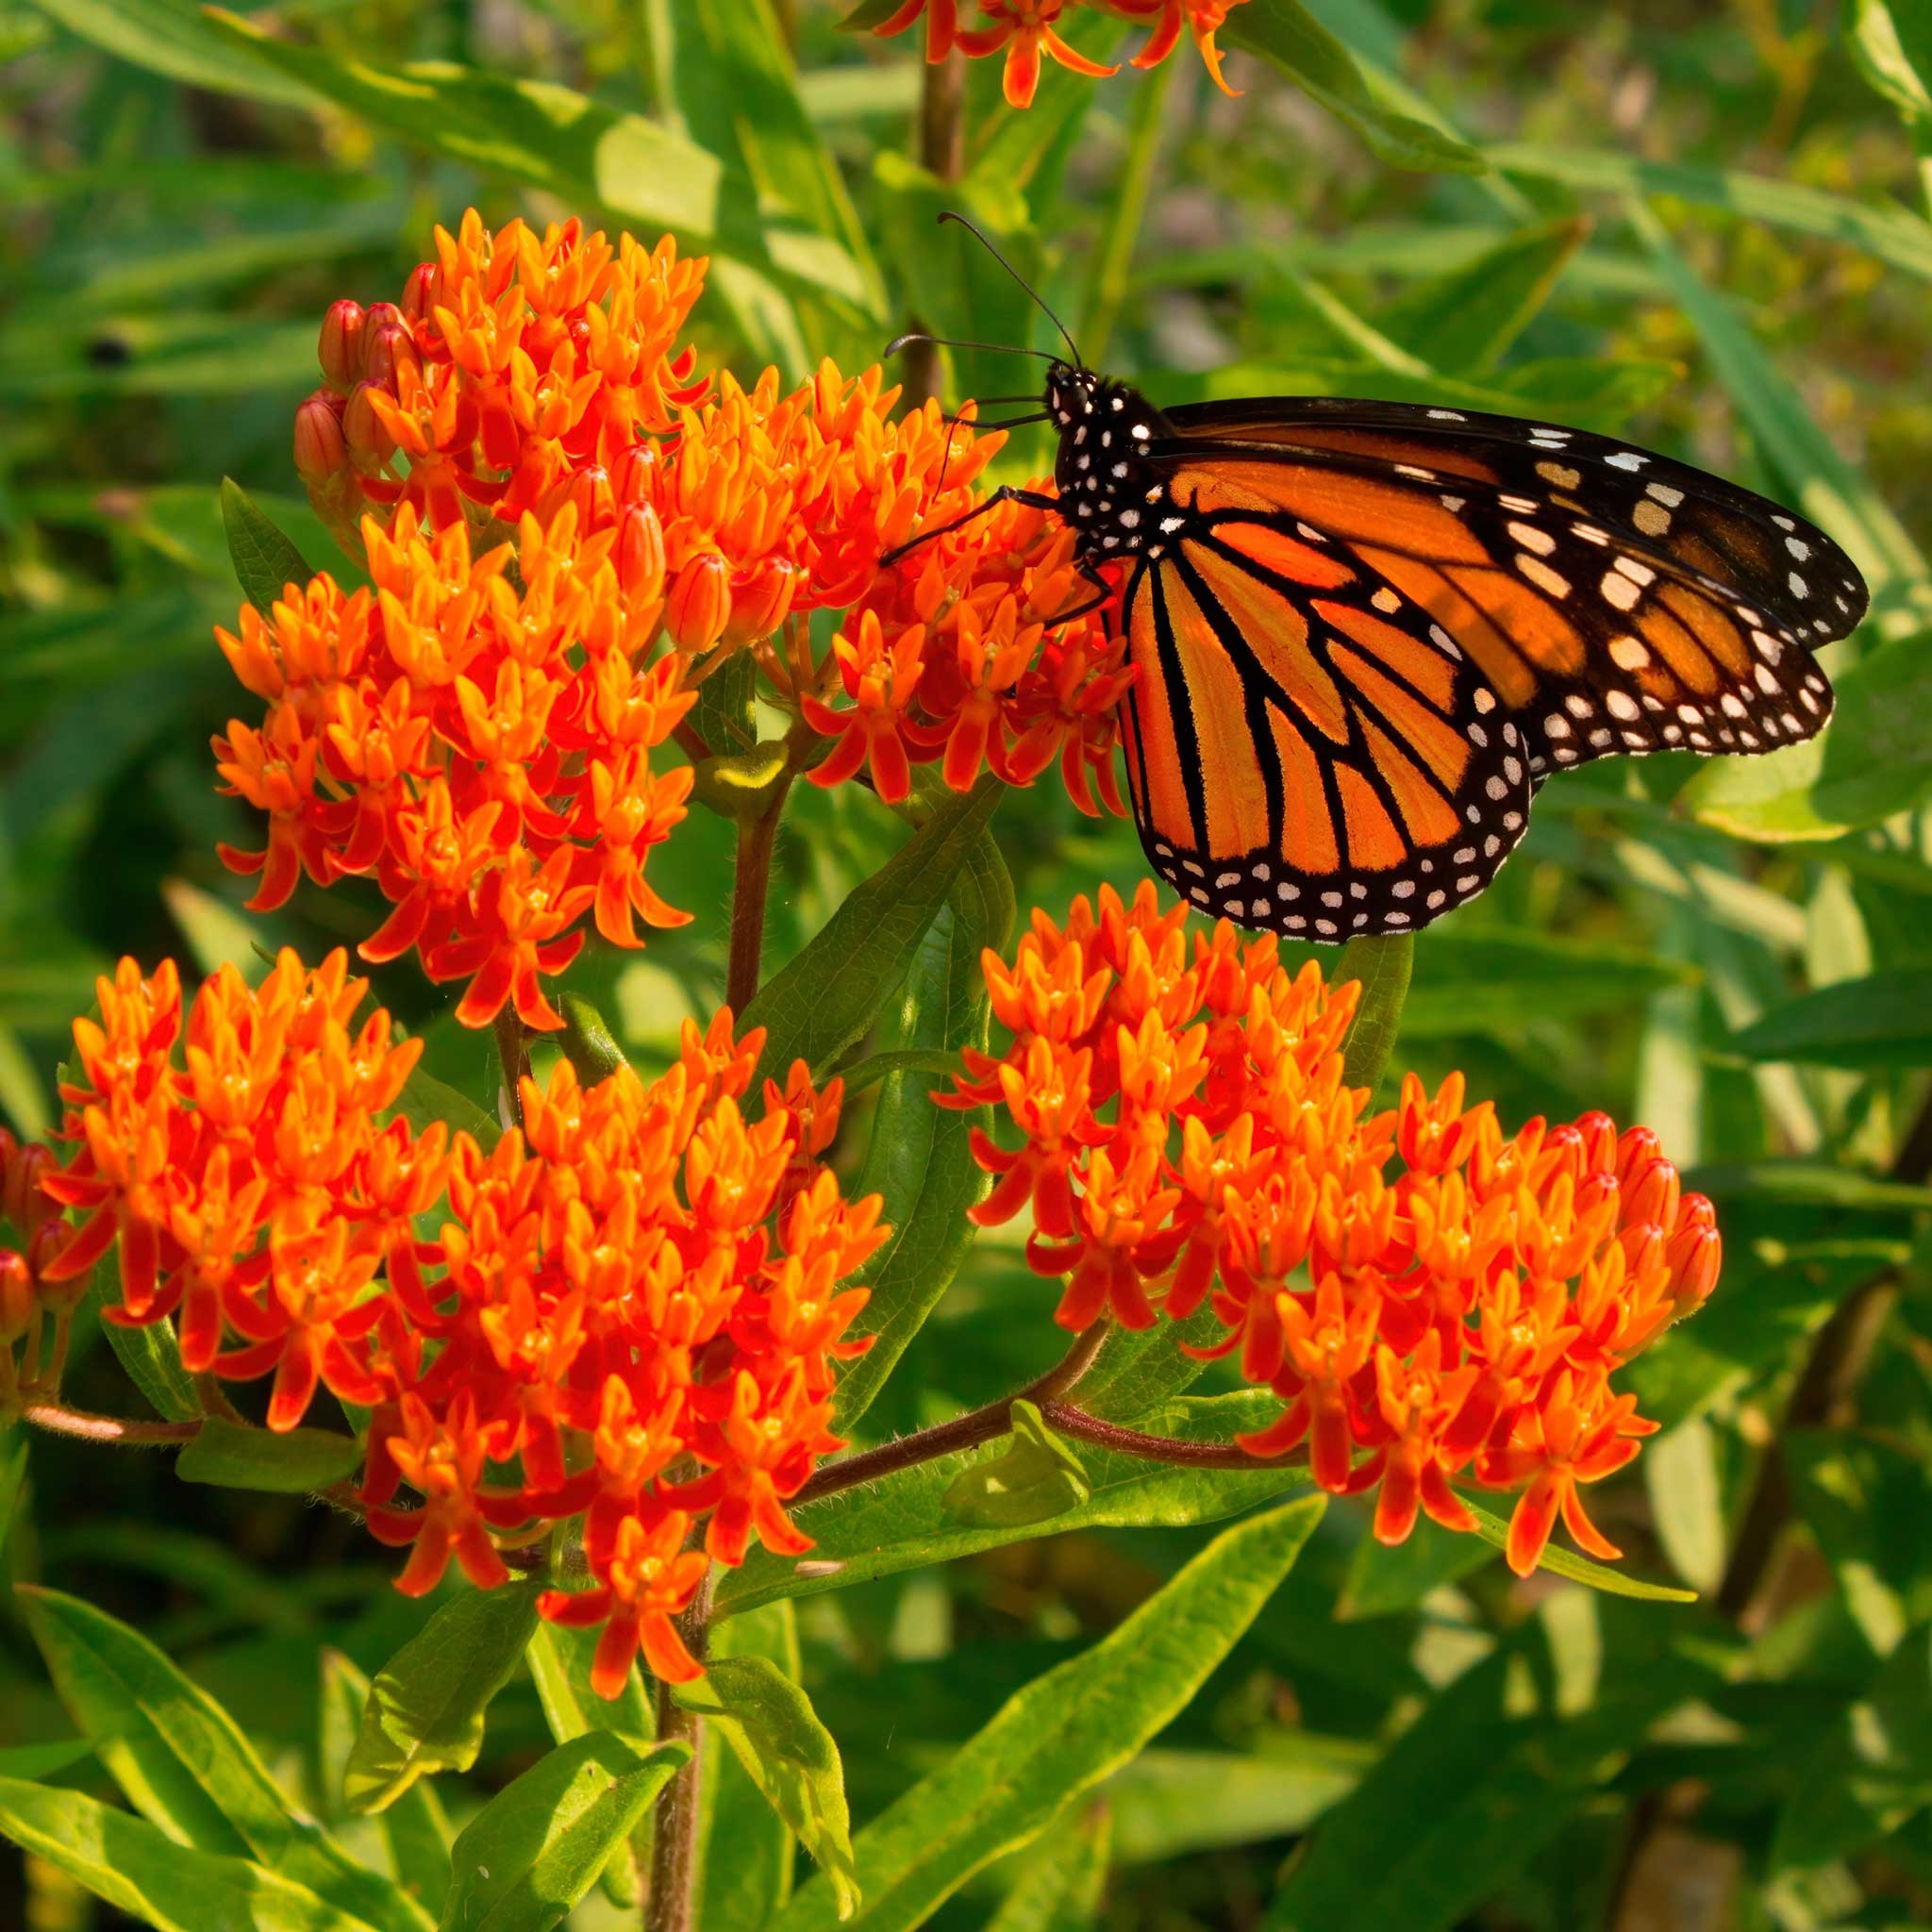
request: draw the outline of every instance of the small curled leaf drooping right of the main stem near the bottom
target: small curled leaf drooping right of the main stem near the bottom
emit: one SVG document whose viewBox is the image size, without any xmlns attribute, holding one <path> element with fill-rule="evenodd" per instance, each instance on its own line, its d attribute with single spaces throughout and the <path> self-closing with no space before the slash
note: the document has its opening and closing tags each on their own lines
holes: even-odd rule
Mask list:
<svg viewBox="0 0 1932 1932">
<path fill-rule="evenodd" d="M 752 1781 L 833 1889 L 840 1918 L 858 1909 L 844 1766 L 811 1698 L 769 1658 L 719 1658 L 676 1700 L 724 1735 Z"/>
</svg>

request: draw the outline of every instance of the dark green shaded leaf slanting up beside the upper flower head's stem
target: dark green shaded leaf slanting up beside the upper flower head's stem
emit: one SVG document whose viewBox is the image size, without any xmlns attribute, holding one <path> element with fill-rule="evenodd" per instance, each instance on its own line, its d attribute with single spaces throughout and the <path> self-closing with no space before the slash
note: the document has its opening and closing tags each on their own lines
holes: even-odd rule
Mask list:
<svg viewBox="0 0 1932 1932">
<path fill-rule="evenodd" d="M 765 1028 L 763 1068 L 782 1080 L 794 1059 L 831 1070 L 879 1018 L 906 974 L 960 866 L 1005 792 L 987 775 L 966 796 L 947 794 L 931 817 L 860 885 L 825 929 L 769 980 L 740 1016 Z"/>
</svg>

